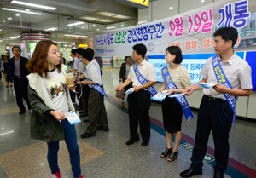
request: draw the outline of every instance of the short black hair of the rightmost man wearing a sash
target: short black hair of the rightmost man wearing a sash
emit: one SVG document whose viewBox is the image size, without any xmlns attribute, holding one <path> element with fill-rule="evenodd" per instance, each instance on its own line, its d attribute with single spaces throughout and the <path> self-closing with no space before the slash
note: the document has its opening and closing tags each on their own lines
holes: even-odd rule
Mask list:
<svg viewBox="0 0 256 178">
<path fill-rule="evenodd" d="M 213 37 L 216 36 L 221 36 L 225 42 L 231 40 L 232 47 L 234 47 L 237 41 L 238 32 L 234 27 L 221 27 L 216 32 L 214 32 Z"/>
</svg>

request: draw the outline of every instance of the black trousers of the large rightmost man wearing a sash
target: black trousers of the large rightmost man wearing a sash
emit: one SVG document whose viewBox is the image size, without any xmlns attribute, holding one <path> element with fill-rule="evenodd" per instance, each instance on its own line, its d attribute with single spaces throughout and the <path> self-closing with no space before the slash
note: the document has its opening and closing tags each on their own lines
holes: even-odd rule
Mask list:
<svg viewBox="0 0 256 178">
<path fill-rule="evenodd" d="M 224 173 L 229 158 L 229 133 L 233 111 L 226 100 L 209 100 L 206 95 L 201 100 L 195 134 L 195 147 L 191 157 L 191 168 L 201 170 L 207 152 L 207 142 L 212 130 L 214 141 L 214 170 Z"/>
</svg>

